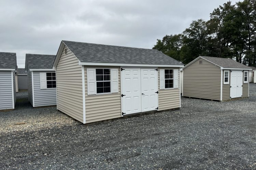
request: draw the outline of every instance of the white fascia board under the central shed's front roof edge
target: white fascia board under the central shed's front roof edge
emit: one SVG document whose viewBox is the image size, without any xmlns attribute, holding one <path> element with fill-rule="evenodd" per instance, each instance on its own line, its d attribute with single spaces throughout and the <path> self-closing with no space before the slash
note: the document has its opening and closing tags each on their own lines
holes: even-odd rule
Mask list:
<svg viewBox="0 0 256 170">
<path fill-rule="evenodd" d="M 122 67 L 184 67 L 184 65 L 161 65 L 161 64 L 125 64 L 125 63 L 91 63 L 79 62 L 79 65 L 87 66 L 122 66 Z"/>
</svg>

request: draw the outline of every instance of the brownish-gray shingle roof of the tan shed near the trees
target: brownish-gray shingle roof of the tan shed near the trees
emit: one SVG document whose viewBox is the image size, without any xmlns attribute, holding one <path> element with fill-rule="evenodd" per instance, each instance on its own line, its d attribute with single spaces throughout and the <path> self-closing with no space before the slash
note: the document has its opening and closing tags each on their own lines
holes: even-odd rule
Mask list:
<svg viewBox="0 0 256 170">
<path fill-rule="evenodd" d="M 202 58 L 205 58 L 206 60 L 209 60 L 210 62 L 213 62 L 221 67 L 224 68 L 244 68 L 244 69 L 250 69 L 250 67 L 243 65 L 239 62 L 236 62 L 230 58 L 219 58 L 219 57 L 207 57 L 207 56 L 201 56 Z"/>
</svg>

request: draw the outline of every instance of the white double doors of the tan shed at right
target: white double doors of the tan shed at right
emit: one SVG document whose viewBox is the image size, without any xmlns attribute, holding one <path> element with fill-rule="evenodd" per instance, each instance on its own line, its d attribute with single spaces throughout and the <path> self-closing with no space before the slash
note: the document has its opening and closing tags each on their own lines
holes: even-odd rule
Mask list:
<svg viewBox="0 0 256 170">
<path fill-rule="evenodd" d="M 231 70 L 230 74 L 230 97 L 242 97 L 243 94 L 243 72 L 239 70 Z"/>
</svg>

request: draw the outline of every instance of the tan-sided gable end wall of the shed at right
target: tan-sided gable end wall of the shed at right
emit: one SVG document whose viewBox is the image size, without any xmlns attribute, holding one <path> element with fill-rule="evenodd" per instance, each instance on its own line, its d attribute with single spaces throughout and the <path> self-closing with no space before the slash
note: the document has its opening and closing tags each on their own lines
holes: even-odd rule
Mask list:
<svg viewBox="0 0 256 170">
<path fill-rule="evenodd" d="M 221 100 L 221 69 L 199 58 L 183 69 L 183 96 Z"/>
</svg>

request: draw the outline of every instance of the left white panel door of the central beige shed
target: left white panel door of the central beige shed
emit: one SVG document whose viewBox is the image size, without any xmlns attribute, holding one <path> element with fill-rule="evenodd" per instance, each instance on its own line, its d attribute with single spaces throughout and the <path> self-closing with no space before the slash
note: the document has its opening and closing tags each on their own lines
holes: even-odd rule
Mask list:
<svg viewBox="0 0 256 170">
<path fill-rule="evenodd" d="M 123 113 L 141 112 L 140 68 L 124 68 L 122 71 Z"/>
</svg>

